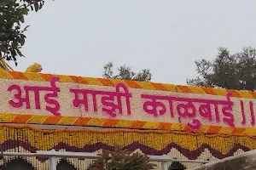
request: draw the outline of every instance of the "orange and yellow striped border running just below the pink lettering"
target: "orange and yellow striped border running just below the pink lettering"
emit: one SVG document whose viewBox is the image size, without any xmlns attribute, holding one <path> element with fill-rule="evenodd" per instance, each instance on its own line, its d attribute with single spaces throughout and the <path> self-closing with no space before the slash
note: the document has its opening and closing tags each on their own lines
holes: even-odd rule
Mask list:
<svg viewBox="0 0 256 170">
<path fill-rule="evenodd" d="M 5 117 L 5 120 L 3 118 Z M 137 132 L 137 133 L 177 133 L 177 134 L 191 134 L 191 135 L 207 135 L 208 137 L 230 137 L 230 136 L 247 136 L 256 139 L 256 127 L 218 127 L 203 125 L 201 128 L 193 132 L 192 129 L 185 124 L 180 123 L 163 123 L 151 122 L 154 127 L 148 126 L 150 122 L 142 121 L 125 121 L 125 120 L 111 120 L 91 117 L 73 117 L 73 116 L 38 116 L 38 115 L 20 115 L 20 114 L 0 114 L 0 122 L 5 123 L 26 123 L 26 124 L 44 124 L 44 125 L 75 125 L 75 126 L 89 126 L 89 127 L 116 127 L 122 129 L 108 130 L 108 131 L 94 131 L 88 129 L 59 129 L 59 130 L 40 130 L 30 125 L 10 126 L 0 124 L 0 127 L 28 127 L 35 131 L 44 133 L 55 132 Z M 112 124 L 113 123 L 113 124 Z M 130 128 L 130 129 L 124 129 Z M 141 130 L 138 130 L 141 129 Z M 145 129 L 145 130 L 143 130 Z"/>
</svg>

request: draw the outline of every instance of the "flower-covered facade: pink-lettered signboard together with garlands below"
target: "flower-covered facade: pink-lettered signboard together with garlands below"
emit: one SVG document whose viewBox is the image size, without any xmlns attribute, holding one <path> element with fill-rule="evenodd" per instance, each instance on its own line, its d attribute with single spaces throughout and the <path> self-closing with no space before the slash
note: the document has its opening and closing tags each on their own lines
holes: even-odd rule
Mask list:
<svg viewBox="0 0 256 170">
<path fill-rule="evenodd" d="M 0 71 L 0 95 L 0 122 L 9 123 L 0 126 L 4 151 L 101 152 L 119 144 L 147 155 L 213 161 L 256 148 L 256 92 Z M 4 158 L 11 166 L 49 167 L 43 157 Z M 60 170 L 85 170 L 91 160 L 58 162 Z M 3 159 L 0 166 L 9 168 Z"/>
</svg>

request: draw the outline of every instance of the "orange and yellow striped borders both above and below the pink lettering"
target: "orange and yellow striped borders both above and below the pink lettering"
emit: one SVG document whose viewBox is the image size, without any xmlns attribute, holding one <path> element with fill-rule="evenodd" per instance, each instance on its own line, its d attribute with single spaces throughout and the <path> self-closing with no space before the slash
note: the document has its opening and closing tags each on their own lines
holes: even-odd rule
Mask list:
<svg viewBox="0 0 256 170">
<path fill-rule="evenodd" d="M 231 97 L 256 99 L 256 92 L 228 90 L 223 88 L 204 88 L 194 86 L 182 86 L 156 82 L 135 82 L 126 80 L 115 80 L 93 77 L 75 77 L 65 75 L 42 74 L 34 72 L 0 71 L 0 78 L 18 79 L 37 82 L 49 82 L 52 77 L 60 77 L 60 82 L 81 83 L 97 86 L 114 87 L 118 82 L 123 82 L 128 88 L 141 88 L 146 90 L 171 91 L 185 94 L 211 94 L 224 96 L 231 92 Z M 128 127 L 158 129 L 167 131 L 193 132 L 185 124 L 166 122 L 144 122 L 118 119 L 102 119 L 77 116 L 40 116 L 27 114 L 0 114 L 0 122 L 13 123 L 36 123 L 51 125 L 74 125 L 74 126 L 96 126 L 96 127 Z M 256 127 L 218 127 L 203 125 L 196 133 L 218 133 L 230 135 L 255 136 Z"/>
</svg>

